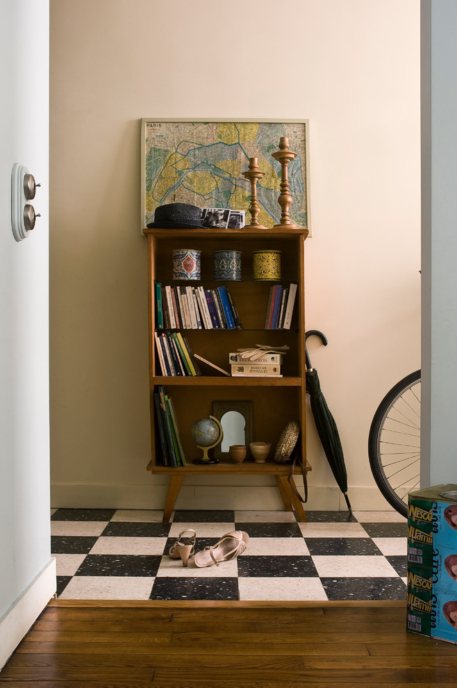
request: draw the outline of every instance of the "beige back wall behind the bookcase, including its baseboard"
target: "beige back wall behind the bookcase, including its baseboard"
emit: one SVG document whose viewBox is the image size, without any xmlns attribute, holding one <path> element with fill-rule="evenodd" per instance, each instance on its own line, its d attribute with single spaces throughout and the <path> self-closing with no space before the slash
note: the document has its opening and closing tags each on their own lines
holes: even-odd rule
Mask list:
<svg viewBox="0 0 457 688">
<path fill-rule="evenodd" d="M 353 506 L 384 507 L 369 424 L 420 365 L 419 3 L 51 0 L 53 506 L 163 506 L 145 470 L 140 117 L 309 118 L 306 325 L 329 338 L 309 350 Z M 312 420 L 308 436 L 309 507 L 338 509 Z M 186 480 L 178 507 L 281 508 L 268 477 Z"/>
</svg>

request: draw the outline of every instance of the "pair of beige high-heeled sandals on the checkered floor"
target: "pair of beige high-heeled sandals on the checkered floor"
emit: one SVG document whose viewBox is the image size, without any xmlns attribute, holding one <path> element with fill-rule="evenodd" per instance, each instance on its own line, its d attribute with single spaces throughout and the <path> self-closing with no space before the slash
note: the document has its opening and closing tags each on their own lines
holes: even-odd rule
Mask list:
<svg viewBox="0 0 457 688">
<path fill-rule="evenodd" d="M 220 562 L 236 559 L 238 555 L 244 552 L 249 542 L 249 535 L 243 530 L 233 530 L 224 535 L 214 546 L 205 547 L 197 554 L 195 554 L 196 540 L 197 533 L 192 528 L 183 530 L 174 545 L 169 548 L 169 556 L 172 559 L 181 557 L 183 566 L 188 565 L 189 558 L 192 556 L 194 556 L 194 564 L 198 568 L 213 566 L 213 564 L 219 566 Z"/>
</svg>

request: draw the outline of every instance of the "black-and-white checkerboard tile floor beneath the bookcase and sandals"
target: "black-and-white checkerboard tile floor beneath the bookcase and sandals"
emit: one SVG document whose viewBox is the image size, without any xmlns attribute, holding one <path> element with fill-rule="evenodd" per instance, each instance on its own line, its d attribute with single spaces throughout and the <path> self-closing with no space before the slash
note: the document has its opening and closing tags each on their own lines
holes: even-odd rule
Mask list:
<svg viewBox="0 0 457 688">
<path fill-rule="evenodd" d="M 162 511 L 54 509 L 58 598 L 73 600 L 403 600 L 406 519 L 396 511 Z M 348 520 L 349 518 L 349 520 Z M 196 551 L 231 530 L 245 552 L 219 566 L 168 556 L 178 534 Z"/>
</svg>

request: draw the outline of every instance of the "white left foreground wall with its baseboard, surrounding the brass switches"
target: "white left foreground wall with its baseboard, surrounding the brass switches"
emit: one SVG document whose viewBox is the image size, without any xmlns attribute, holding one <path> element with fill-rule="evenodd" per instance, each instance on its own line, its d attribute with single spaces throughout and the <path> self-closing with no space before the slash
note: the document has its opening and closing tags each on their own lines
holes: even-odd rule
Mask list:
<svg viewBox="0 0 457 688">
<path fill-rule="evenodd" d="M 56 590 L 49 527 L 49 3 L 0 0 L 0 667 Z M 42 183 L 11 231 L 11 171 Z"/>
</svg>

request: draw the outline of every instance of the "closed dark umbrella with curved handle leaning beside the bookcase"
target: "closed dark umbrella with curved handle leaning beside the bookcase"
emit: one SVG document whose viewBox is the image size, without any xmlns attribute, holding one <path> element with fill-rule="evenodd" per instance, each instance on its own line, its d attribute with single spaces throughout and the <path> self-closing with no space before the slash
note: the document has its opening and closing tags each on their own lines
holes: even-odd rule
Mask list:
<svg viewBox="0 0 457 688">
<path fill-rule="evenodd" d="M 308 337 L 317 335 L 321 338 L 322 344 L 327 345 L 327 338 L 322 332 L 317 329 L 310 329 L 305 334 L 305 341 Z M 306 349 L 306 391 L 310 395 L 311 410 L 316 424 L 317 434 L 319 434 L 320 441 L 324 447 L 324 452 L 329 461 L 333 476 L 335 477 L 338 487 L 344 495 L 349 514 L 352 514 L 351 503 L 347 496 L 347 471 L 344 464 L 344 454 L 340 441 L 340 434 L 336 427 L 335 418 L 333 418 L 324 395 L 321 391 L 319 382 L 319 375 L 317 370 L 311 366 L 308 350 Z"/>
</svg>

